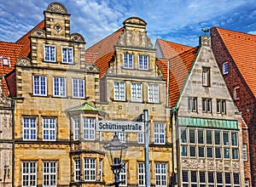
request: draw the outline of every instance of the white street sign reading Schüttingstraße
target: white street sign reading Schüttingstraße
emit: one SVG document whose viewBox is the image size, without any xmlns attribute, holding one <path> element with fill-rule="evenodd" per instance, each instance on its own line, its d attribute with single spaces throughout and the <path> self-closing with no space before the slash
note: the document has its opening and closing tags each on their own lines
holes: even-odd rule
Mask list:
<svg viewBox="0 0 256 187">
<path fill-rule="evenodd" d="M 144 132 L 144 122 L 96 121 L 96 131 L 143 133 Z"/>
</svg>

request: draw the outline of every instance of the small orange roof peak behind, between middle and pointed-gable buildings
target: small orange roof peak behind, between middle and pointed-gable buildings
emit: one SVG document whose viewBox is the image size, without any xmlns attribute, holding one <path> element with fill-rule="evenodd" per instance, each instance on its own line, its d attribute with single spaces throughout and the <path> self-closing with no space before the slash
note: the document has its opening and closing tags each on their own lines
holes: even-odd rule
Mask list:
<svg viewBox="0 0 256 187">
<path fill-rule="evenodd" d="M 162 54 L 163 58 L 166 59 L 171 59 L 172 57 L 177 56 L 177 54 L 182 54 L 183 52 L 192 48 L 183 44 L 169 42 L 162 39 L 157 39 L 155 43 L 156 45 L 160 46 L 160 54 Z"/>
</svg>

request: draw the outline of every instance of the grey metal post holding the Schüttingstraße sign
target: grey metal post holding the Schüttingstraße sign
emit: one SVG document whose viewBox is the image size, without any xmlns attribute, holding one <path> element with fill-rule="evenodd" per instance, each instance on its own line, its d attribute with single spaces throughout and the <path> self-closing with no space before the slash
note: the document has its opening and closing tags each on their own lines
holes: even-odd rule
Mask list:
<svg viewBox="0 0 256 187">
<path fill-rule="evenodd" d="M 150 168 L 149 168 L 149 156 L 148 156 L 148 110 L 143 111 L 144 114 L 144 143 L 145 143 L 145 176 L 146 187 L 150 187 Z"/>
</svg>

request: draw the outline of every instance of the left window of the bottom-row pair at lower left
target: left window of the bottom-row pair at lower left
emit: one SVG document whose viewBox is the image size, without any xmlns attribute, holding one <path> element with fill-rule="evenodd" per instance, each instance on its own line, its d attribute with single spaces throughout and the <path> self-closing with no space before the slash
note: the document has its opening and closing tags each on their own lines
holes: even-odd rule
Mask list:
<svg viewBox="0 0 256 187">
<path fill-rule="evenodd" d="M 22 186 L 37 186 L 37 163 L 36 161 L 22 162 Z"/>
</svg>

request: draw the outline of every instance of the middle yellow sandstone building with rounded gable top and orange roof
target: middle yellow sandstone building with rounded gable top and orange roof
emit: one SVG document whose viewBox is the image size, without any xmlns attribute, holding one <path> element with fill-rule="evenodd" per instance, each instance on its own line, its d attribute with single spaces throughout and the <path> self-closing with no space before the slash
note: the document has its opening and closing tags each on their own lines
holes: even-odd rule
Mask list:
<svg viewBox="0 0 256 187">
<path fill-rule="evenodd" d="M 155 49 L 147 36 L 147 23 L 137 17 L 124 21 L 124 27 L 97 42 L 85 52 L 86 62 L 100 71 L 100 101 L 96 108 L 106 114 L 103 121 L 134 121 L 143 110 L 149 113 L 150 186 L 167 186 L 172 173 L 172 139 L 166 108 L 166 82 L 156 65 Z M 125 186 L 145 185 L 144 134 L 119 132 L 128 145 L 120 178 Z M 113 133 L 102 134 L 109 141 Z M 113 182 L 109 163 L 104 177 Z"/>
</svg>

